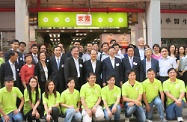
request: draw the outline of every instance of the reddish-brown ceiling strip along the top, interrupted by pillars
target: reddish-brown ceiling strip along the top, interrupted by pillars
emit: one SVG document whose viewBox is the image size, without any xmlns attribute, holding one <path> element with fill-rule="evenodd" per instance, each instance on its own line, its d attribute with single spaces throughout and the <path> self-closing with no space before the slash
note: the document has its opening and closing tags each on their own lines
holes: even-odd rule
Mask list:
<svg viewBox="0 0 187 122">
<path fill-rule="evenodd" d="M 145 8 L 150 0 L 27 0 L 29 8 L 72 7 L 72 8 Z M 186 9 L 187 0 L 160 0 L 162 9 Z M 0 0 L 0 8 L 14 8 L 15 0 Z"/>
</svg>

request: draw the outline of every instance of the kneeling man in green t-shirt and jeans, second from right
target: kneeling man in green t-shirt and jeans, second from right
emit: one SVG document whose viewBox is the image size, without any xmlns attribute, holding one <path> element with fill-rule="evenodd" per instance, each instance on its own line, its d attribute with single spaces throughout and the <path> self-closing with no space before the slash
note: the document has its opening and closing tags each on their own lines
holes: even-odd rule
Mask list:
<svg viewBox="0 0 187 122">
<path fill-rule="evenodd" d="M 153 105 L 156 105 L 160 115 L 160 122 L 167 122 L 164 117 L 164 92 L 162 83 L 155 78 L 155 72 L 152 68 L 147 70 L 147 79 L 142 83 L 142 85 L 143 100 L 146 106 L 146 118 L 148 120 L 153 118 Z"/>
</svg>

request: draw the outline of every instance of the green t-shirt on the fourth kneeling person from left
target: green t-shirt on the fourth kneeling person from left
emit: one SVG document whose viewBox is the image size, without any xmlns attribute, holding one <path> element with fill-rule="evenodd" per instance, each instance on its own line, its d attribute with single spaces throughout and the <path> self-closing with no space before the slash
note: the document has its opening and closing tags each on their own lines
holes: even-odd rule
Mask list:
<svg viewBox="0 0 187 122">
<path fill-rule="evenodd" d="M 79 91 L 77 91 L 76 89 L 74 89 L 73 93 L 71 93 L 69 89 L 66 89 L 65 91 L 62 92 L 60 103 L 63 103 L 69 106 L 74 106 L 74 108 L 76 109 L 78 107 L 77 106 L 78 102 L 80 102 L 80 96 L 79 96 Z M 67 108 L 62 107 L 61 110 L 63 113 L 65 113 Z"/>
</svg>

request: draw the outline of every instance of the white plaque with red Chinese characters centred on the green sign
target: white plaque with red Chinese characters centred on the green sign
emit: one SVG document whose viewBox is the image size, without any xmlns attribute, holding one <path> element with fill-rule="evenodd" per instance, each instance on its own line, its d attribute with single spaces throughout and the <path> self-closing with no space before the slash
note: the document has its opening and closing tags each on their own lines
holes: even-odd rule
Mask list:
<svg viewBox="0 0 187 122">
<path fill-rule="evenodd" d="M 92 15 L 91 14 L 77 14 L 76 16 L 77 25 L 92 25 Z"/>
</svg>

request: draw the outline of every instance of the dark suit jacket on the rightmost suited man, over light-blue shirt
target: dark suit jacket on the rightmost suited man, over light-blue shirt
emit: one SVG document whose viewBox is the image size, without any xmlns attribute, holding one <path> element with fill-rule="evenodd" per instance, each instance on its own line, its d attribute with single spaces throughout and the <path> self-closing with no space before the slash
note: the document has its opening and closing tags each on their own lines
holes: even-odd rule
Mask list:
<svg viewBox="0 0 187 122">
<path fill-rule="evenodd" d="M 144 76 L 146 76 L 146 58 L 142 60 Z M 158 60 L 151 58 L 151 68 L 154 70 L 155 74 L 159 72 L 159 63 Z M 145 78 L 144 78 L 145 79 Z"/>
</svg>

